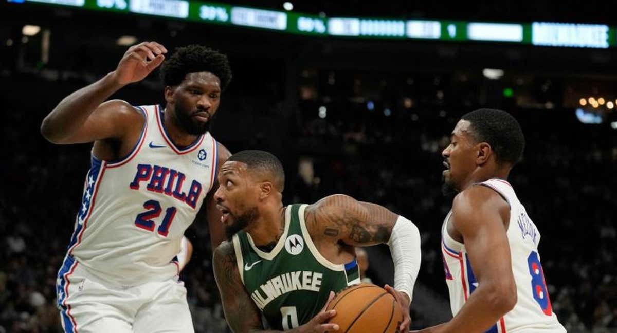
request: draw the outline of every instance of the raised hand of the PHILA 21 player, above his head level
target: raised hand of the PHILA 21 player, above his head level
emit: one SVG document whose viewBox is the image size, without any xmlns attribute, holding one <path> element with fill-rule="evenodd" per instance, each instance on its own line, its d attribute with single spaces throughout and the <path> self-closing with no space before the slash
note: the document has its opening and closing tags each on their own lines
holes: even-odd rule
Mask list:
<svg viewBox="0 0 617 333">
<path fill-rule="evenodd" d="M 154 41 L 129 47 L 114 71 L 115 80 L 119 84 L 143 80 L 154 68 L 162 64 L 166 53 L 167 49 Z"/>
</svg>

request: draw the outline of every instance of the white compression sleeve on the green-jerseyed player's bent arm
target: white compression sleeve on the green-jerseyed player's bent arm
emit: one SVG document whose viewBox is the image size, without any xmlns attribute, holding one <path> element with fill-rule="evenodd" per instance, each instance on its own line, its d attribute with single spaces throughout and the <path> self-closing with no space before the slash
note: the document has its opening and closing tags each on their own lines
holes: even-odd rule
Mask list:
<svg viewBox="0 0 617 333">
<path fill-rule="evenodd" d="M 418 227 L 412 221 L 399 216 L 387 245 L 394 261 L 394 289 L 407 294 L 411 301 L 422 256 Z"/>
</svg>

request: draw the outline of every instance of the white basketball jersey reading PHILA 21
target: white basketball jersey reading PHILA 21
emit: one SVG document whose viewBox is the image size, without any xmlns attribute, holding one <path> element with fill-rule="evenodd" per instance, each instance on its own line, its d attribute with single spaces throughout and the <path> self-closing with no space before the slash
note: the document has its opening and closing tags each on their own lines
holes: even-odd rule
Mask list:
<svg viewBox="0 0 617 333">
<path fill-rule="evenodd" d="M 175 258 L 217 168 L 210 133 L 179 148 L 165 133 L 159 105 L 139 107 L 139 142 L 119 161 L 92 156 L 68 255 L 112 284 L 136 286 L 178 274 Z"/>
</svg>

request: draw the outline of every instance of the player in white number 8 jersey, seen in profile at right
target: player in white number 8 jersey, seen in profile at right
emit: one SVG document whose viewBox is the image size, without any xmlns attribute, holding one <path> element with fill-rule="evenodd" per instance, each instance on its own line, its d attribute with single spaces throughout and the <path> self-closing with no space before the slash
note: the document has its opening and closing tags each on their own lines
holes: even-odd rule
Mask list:
<svg viewBox="0 0 617 333">
<path fill-rule="evenodd" d="M 524 144 L 518 122 L 500 110 L 467 113 L 450 134 L 444 179 L 460 193 L 441 250 L 454 318 L 420 332 L 566 332 L 544 281 L 540 232 L 507 181 Z"/>
</svg>

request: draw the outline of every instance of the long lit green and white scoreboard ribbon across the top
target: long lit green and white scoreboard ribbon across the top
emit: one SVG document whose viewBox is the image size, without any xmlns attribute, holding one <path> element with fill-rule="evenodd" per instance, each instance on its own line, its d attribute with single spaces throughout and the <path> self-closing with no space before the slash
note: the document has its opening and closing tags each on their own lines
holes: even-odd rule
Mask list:
<svg viewBox="0 0 617 333">
<path fill-rule="evenodd" d="M 178 20 L 258 28 L 281 33 L 344 38 L 487 41 L 535 46 L 617 46 L 617 27 L 584 23 L 500 23 L 453 20 L 402 20 L 326 17 L 281 10 L 231 6 L 193 0 L 9 0 L 117 13 L 155 15 Z"/>
</svg>

